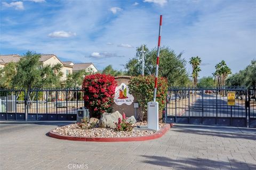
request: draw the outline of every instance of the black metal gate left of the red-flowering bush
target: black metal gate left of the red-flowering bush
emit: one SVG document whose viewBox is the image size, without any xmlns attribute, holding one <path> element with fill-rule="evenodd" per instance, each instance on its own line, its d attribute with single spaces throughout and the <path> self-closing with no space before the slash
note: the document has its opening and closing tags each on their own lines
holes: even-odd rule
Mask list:
<svg viewBox="0 0 256 170">
<path fill-rule="evenodd" d="M 0 89 L 0 120 L 75 121 L 82 89 Z"/>
</svg>

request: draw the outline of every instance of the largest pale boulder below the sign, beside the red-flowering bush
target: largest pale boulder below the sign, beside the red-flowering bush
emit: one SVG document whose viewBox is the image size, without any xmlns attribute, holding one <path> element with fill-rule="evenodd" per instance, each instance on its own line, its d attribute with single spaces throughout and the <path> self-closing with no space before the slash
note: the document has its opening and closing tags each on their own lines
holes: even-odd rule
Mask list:
<svg viewBox="0 0 256 170">
<path fill-rule="evenodd" d="M 118 118 L 122 118 L 122 115 L 116 111 L 113 113 L 103 113 L 99 120 L 100 128 L 116 128 L 116 124 L 118 122 Z"/>
</svg>

